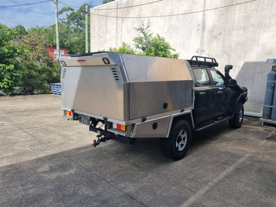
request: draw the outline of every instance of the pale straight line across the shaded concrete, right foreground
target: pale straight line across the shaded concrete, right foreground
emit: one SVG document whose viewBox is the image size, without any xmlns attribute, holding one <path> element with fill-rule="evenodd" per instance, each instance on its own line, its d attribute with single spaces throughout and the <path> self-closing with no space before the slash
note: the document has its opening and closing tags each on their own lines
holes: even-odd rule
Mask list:
<svg viewBox="0 0 276 207">
<path fill-rule="evenodd" d="M 207 190 L 209 190 L 210 188 L 215 186 L 215 184 L 217 184 L 219 181 L 221 181 L 221 179 L 226 177 L 226 175 L 230 174 L 230 172 L 233 172 L 233 170 L 235 170 L 235 168 L 237 168 L 237 166 L 239 166 L 239 164 L 242 164 L 248 157 L 250 157 L 250 155 L 245 155 L 244 157 L 241 157 L 238 161 L 235 162 L 235 164 L 233 164 L 232 166 L 230 166 L 229 168 L 224 170 L 224 172 L 221 172 L 221 174 L 219 176 L 215 177 L 215 179 L 208 182 L 208 184 L 206 186 L 204 186 L 199 191 L 197 191 L 197 193 L 195 193 L 192 197 L 189 197 L 184 202 L 184 204 L 181 204 L 180 206 L 186 207 L 186 206 L 192 205 L 195 201 L 197 201 L 197 199 L 199 199 L 199 197 L 204 195 L 204 193 L 206 193 Z"/>
</svg>

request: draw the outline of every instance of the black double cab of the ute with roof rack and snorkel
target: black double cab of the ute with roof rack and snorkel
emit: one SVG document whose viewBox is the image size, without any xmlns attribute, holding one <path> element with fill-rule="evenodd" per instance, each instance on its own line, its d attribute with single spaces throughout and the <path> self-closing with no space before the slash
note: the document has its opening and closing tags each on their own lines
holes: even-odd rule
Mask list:
<svg viewBox="0 0 276 207">
<path fill-rule="evenodd" d="M 233 84 L 235 80 L 229 75 L 229 70 L 233 66 L 226 66 L 224 76 L 215 69 L 218 63 L 214 58 L 194 56 L 188 62 L 195 78 L 195 108 L 193 109 L 195 130 L 201 130 L 220 120 L 231 119 L 237 101 L 242 104 L 247 101 L 247 89 L 240 88 L 237 83 Z M 242 108 L 241 115 L 243 113 Z M 242 121 L 242 119 L 239 120 Z M 242 123 L 239 125 L 241 126 Z"/>
</svg>

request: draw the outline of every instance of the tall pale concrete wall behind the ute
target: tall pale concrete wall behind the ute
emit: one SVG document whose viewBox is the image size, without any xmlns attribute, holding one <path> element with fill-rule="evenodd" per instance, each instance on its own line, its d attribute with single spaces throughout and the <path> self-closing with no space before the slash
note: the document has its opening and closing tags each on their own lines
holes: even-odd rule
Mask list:
<svg viewBox="0 0 276 207">
<path fill-rule="evenodd" d="M 117 0 L 90 10 L 91 51 L 119 48 L 137 37 L 133 28 L 150 22 L 179 58 L 215 57 L 224 72 L 248 87 L 245 110 L 262 113 L 267 73 L 276 58 L 274 0 Z"/>
</svg>

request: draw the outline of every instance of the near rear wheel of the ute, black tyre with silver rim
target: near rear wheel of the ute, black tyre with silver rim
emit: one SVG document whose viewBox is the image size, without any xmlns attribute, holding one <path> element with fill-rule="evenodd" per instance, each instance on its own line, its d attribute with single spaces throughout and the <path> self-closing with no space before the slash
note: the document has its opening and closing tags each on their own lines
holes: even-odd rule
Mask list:
<svg viewBox="0 0 276 207">
<path fill-rule="evenodd" d="M 185 156 L 191 141 L 190 125 L 185 120 L 180 120 L 172 126 L 170 137 L 161 139 L 161 151 L 170 159 L 181 159 Z"/>
</svg>

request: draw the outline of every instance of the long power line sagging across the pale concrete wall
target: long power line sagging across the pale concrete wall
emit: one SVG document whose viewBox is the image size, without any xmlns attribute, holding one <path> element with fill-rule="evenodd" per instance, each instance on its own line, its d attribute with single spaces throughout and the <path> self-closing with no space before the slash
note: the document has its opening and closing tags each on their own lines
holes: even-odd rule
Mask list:
<svg viewBox="0 0 276 207">
<path fill-rule="evenodd" d="M 180 13 L 180 14 L 167 14 L 167 15 L 161 15 L 161 16 L 148 16 L 148 17 L 116 17 L 116 16 L 108 16 L 108 15 L 103 15 L 103 14 L 91 14 L 91 15 L 95 15 L 95 16 L 99 16 L 99 17 L 110 17 L 110 18 L 117 18 L 117 19 L 144 19 L 144 18 L 159 18 L 159 17 L 175 17 L 175 16 L 181 16 L 181 15 L 186 15 L 186 14 L 195 14 L 195 13 L 199 13 L 199 12 L 208 12 L 211 10 L 218 10 L 221 8 L 228 8 L 228 7 L 232 7 L 232 6 L 237 6 L 237 5 L 241 5 L 244 3 L 250 3 L 253 1 L 258 1 L 258 0 L 250 0 L 250 1 L 244 1 L 241 3 L 233 3 L 230 4 L 228 6 L 220 6 L 220 7 L 216 7 L 216 8 L 210 8 L 210 9 L 206 9 L 206 10 L 199 10 L 199 11 L 195 11 L 195 12 L 185 12 L 185 13 Z M 92 9 L 94 10 L 94 9 Z"/>
</svg>

